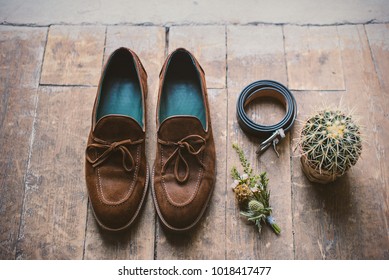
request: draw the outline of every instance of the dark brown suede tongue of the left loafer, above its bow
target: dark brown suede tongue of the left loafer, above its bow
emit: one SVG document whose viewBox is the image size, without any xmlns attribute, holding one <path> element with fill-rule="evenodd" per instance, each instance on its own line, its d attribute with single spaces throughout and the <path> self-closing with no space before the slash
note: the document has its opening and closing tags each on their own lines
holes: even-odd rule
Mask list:
<svg viewBox="0 0 389 280">
<path fill-rule="evenodd" d="M 107 115 L 96 123 L 93 134 L 104 141 L 138 140 L 144 132 L 137 121 L 127 116 Z"/>
</svg>

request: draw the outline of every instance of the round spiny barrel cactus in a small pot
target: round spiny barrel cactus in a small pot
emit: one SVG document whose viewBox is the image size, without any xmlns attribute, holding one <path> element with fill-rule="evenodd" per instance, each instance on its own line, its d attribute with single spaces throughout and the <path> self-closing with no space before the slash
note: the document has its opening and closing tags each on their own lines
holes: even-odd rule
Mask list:
<svg viewBox="0 0 389 280">
<path fill-rule="evenodd" d="M 326 184 L 342 176 L 362 152 L 359 126 L 339 110 L 310 117 L 300 135 L 303 171 L 312 182 Z"/>
</svg>

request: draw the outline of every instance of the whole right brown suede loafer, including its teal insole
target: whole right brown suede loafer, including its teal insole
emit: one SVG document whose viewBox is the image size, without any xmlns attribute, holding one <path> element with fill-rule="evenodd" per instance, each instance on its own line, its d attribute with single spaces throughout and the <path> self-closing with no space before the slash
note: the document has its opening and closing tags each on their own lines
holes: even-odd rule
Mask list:
<svg viewBox="0 0 389 280">
<path fill-rule="evenodd" d="M 157 105 L 154 204 L 162 224 L 186 231 L 200 220 L 215 181 L 215 144 L 204 72 L 185 49 L 167 58 Z"/>
</svg>

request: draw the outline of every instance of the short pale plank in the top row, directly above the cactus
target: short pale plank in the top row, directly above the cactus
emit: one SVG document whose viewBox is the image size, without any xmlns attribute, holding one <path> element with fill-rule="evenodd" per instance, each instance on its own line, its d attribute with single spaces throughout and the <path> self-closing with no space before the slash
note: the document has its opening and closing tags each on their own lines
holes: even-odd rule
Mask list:
<svg viewBox="0 0 389 280">
<path fill-rule="evenodd" d="M 284 34 L 291 89 L 345 89 L 336 26 L 286 25 Z"/>
</svg>

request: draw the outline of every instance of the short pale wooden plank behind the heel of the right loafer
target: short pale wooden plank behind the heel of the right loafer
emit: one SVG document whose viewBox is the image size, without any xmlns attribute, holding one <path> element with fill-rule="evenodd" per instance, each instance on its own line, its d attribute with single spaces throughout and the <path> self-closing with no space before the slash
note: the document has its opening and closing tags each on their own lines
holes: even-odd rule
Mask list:
<svg viewBox="0 0 389 280">
<path fill-rule="evenodd" d="M 173 26 L 169 30 L 169 52 L 183 47 L 203 67 L 208 88 L 226 86 L 226 29 L 224 26 Z"/>
</svg>

